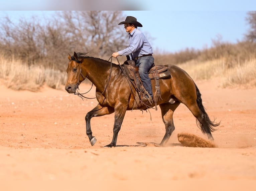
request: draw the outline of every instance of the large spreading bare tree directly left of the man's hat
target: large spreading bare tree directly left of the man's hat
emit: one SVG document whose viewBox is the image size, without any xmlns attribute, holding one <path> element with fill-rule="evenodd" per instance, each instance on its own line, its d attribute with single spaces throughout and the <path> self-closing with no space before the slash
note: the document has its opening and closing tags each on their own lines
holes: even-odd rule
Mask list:
<svg viewBox="0 0 256 191">
<path fill-rule="evenodd" d="M 68 11 L 61 12 L 67 34 L 73 34 L 76 50 L 95 56 L 111 56 L 126 46 L 122 28 L 118 26 L 121 11 Z"/>
</svg>

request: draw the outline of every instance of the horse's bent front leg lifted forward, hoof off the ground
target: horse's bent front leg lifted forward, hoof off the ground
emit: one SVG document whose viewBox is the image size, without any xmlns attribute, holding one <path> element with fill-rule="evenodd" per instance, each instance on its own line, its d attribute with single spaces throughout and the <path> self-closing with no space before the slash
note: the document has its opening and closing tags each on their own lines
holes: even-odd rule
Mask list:
<svg viewBox="0 0 256 191">
<path fill-rule="evenodd" d="M 88 135 L 90 143 L 91 143 L 92 146 L 95 144 L 97 139 L 92 135 L 91 118 L 111 114 L 113 112 L 114 112 L 113 108 L 111 108 L 111 107 L 102 107 L 100 104 L 98 104 L 94 109 L 92 109 L 91 111 L 89 111 L 86 114 L 86 116 L 85 116 L 86 134 Z"/>
</svg>

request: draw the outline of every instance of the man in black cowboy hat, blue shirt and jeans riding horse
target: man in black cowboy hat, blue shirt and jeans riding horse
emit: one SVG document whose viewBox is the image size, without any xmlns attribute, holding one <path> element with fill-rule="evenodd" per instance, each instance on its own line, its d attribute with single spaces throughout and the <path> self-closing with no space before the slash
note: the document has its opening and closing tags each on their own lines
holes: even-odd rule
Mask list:
<svg viewBox="0 0 256 191">
<path fill-rule="evenodd" d="M 119 23 L 118 25 L 124 24 L 124 28 L 127 33 L 129 33 L 129 47 L 124 50 L 114 52 L 112 56 L 116 58 L 117 56 L 130 56 L 130 59 L 135 61 L 136 66 L 139 67 L 139 75 L 143 83 L 144 88 L 150 95 L 150 97 L 143 97 L 142 101 L 144 103 L 152 103 L 153 93 L 151 80 L 148 77 L 148 72 L 150 68 L 154 66 L 154 57 L 152 56 L 152 47 L 144 34 L 137 29 L 137 27 L 142 27 L 135 17 L 127 16 L 125 21 Z"/>
</svg>

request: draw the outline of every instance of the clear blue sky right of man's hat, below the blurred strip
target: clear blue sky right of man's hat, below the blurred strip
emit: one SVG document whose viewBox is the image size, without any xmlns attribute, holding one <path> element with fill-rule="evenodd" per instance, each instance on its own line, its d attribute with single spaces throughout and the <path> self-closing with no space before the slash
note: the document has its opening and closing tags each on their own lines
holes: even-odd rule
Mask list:
<svg viewBox="0 0 256 191">
<path fill-rule="evenodd" d="M 185 48 L 203 49 L 212 40 L 237 43 L 249 29 L 245 18 L 248 11 L 125 11 L 134 16 L 139 28 L 154 40 L 159 51 L 177 52 Z M 125 18 L 124 18 L 125 20 Z"/>
</svg>

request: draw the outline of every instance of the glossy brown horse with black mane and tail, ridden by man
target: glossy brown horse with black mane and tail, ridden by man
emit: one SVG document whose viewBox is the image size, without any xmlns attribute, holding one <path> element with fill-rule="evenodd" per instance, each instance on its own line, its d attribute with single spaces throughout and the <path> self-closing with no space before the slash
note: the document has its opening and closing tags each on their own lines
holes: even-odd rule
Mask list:
<svg viewBox="0 0 256 191">
<path fill-rule="evenodd" d="M 65 90 L 72 94 L 76 93 L 79 84 L 86 78 L 96 87 L 98 105 L 86 114 L 86 134 L 93 146 L 96 138 L 92 135 L 91 118 L 99 117 L 115 112 L 113 127 L 113 139 L 106 147 L 116 146 L 118 132 L 121 128 L 126 110 L 132 110 L 135 102 L 135 88 L 126 79 L 121 66 L 99 58 L 89 57 L 87 53 L 74 53 L 68 55 L 69 65 L 67 68 L 68 80 Z M 211 121 L 206 113 L 201 93 L 191 77 L 181 68 L 174 65 L 166 65 L 170 70 L 171 77 L 159 82 L 160 97 L 157 105 L 160 106 L 162 120 L 165 124 L 165 135 L 159 144 L 163 146 L 170 138 L 175 129 L 173 124 L 173 112 L 183 103 L 197 118 L 197 125 L 202 132 L 207 134 L 208 139 L 214 140 L 212 133 L 214 127 L 220 124 Z M 152 80 L 153 93 L 155 81 Z M 170 100 L 175 100 L 171 102 Z M 139 104 L 137 109 L 147 109 L 144 104 Z"/>
</svg>

